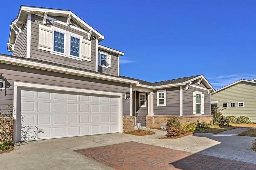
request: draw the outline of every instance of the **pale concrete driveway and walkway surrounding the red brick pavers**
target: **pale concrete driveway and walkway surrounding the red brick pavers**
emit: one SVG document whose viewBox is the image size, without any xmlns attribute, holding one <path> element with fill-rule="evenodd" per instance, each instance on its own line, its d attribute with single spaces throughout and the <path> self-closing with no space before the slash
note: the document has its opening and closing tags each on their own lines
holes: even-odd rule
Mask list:
<svg viewBox="0 0 256 170">
<path fill-rule="evenodd" d="M 152 129 L 153 130 L 153 129 Z M 248 149 L 256 137 L 237 136 L 248 129 L 234 129 L 221 134 L 198 133 L 179 139 L 161 140 L 165 131 L 148 136 L 134 136 L 122 133 L 80 136 L 60 139 L 40 140 L 22 143 L 15 150 L 0 155 L 1 169 L 111 169 L 74 150 L 138 142 L 182 150 L 204 155 L 223 157 L 248 163 L 256 163 L 256 153 Z M 227 134 L 227 135 L 225 135 Z M 239 154 L 240 153 L 240 154 Z"/>
</svg>

